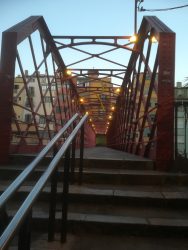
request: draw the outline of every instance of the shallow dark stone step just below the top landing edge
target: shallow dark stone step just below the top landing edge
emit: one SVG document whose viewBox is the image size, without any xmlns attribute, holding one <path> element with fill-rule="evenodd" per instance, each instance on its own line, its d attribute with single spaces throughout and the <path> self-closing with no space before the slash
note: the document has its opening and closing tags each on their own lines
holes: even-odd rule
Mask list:
<svg viewBox="0 0 188 250">
<path fill-rule="evenodd" d="M 0 180 L 15 179 L 24 166 L 8 165 L 0 167 Z M 39 166 L 29 177 L 38 179 L 45 167 Z M 78 169 L 75 169 L 75 179 L 78 179 Z M 59 181 L 63 180 L 63 167 L 59 169 Z M 155 170 L 125 170 L 105 168 L 85 168 L 83 183 L 114 184 L 114 185 L 187 185 L 188 174 L 166 173 Z"/>
</svg>

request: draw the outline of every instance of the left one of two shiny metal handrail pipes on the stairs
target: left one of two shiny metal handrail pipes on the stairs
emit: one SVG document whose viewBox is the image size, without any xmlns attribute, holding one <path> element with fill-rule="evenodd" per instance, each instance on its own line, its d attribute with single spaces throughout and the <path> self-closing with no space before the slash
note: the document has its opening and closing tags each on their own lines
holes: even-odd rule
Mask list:
<svg viewBox="0 0 188 250">
<path fill-rule="evenodd" d="M 22 185 L 26 178 L 35 170 L 37 164 L 44 158 L 44 156 L 50 151 L 54 144 L 59 140 L 63 133 L 70 127 L 70 125 L 78 118 L 78 114 L 75 114 L 66 124 L 60 129 L 60 131 L 54 136 L 54 138 L 43 148 L 38 156 L 22 171 L 22 173 L 8 186 L 8 188 L 0 196 L 0 209 L 6 203 L 8 199 L 16 192 L 16 190 Z"/>
</svg>

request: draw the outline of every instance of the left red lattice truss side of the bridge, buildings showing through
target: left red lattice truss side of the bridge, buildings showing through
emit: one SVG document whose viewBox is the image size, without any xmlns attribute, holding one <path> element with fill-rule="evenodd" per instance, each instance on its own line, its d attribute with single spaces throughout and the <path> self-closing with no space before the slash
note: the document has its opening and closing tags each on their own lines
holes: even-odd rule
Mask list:
<svg viewBox="0 0 188 250">
<path fill-rule="evenodd" d="M 6 162 L 9 153 L 38 152 L 80 106 L 43 17 L 3 32 L 0 62 L 0 161 Z"/>
</svg>

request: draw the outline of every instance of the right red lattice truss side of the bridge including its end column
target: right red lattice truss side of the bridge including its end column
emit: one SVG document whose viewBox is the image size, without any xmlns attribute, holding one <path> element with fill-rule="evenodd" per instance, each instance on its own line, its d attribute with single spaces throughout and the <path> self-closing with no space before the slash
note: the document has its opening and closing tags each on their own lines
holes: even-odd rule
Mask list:
<svg viewBox="0 0 188 250">
<path fill-rule="evenodd" d="M 143 18 L 110 125 L 108 145 L 154 159 L 167 170 L 174 157 L 175 33 Z"/>
</svg>

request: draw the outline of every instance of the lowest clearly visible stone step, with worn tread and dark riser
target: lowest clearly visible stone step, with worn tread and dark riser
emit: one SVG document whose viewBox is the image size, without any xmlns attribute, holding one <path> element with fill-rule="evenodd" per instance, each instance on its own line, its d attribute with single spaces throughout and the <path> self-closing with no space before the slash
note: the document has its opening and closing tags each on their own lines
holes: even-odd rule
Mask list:
<svg viewBox="0 0 188 250">
<path fill-rule="evenodd" d="M 13 214 L 13 211 L 12 211 Z M 12 216 L 9 212 L 10 217 Z M 48 213 L 33 209 L 32 228 L 34 231 L 47 232 Z M 61 212 L 56 212 L 56 232 L 61 230 Z M 188 236 L 188 217 L 156 217 L 151 215 L 136 216 L 101 214 L 101 213 L 68 213 L 69 232 L 87 231 L 139 236 Z"/>
</svg>

